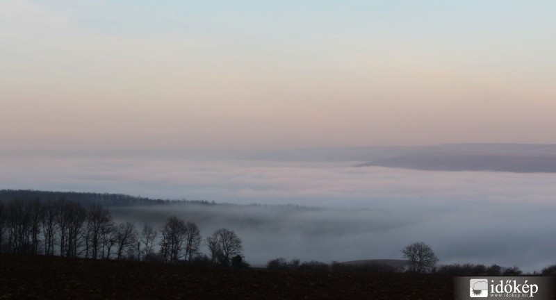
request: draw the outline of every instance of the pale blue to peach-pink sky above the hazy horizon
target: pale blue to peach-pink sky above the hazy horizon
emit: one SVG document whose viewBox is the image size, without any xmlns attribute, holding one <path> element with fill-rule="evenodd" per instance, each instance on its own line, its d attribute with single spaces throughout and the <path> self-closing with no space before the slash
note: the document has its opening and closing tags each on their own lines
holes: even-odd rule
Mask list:
<svg viewBox="0 0 556 300">
<path fill-rule="evenodd" d="M 3 150 L 555 144 L 554 1 L 0 0 Z"/>
</svg>

